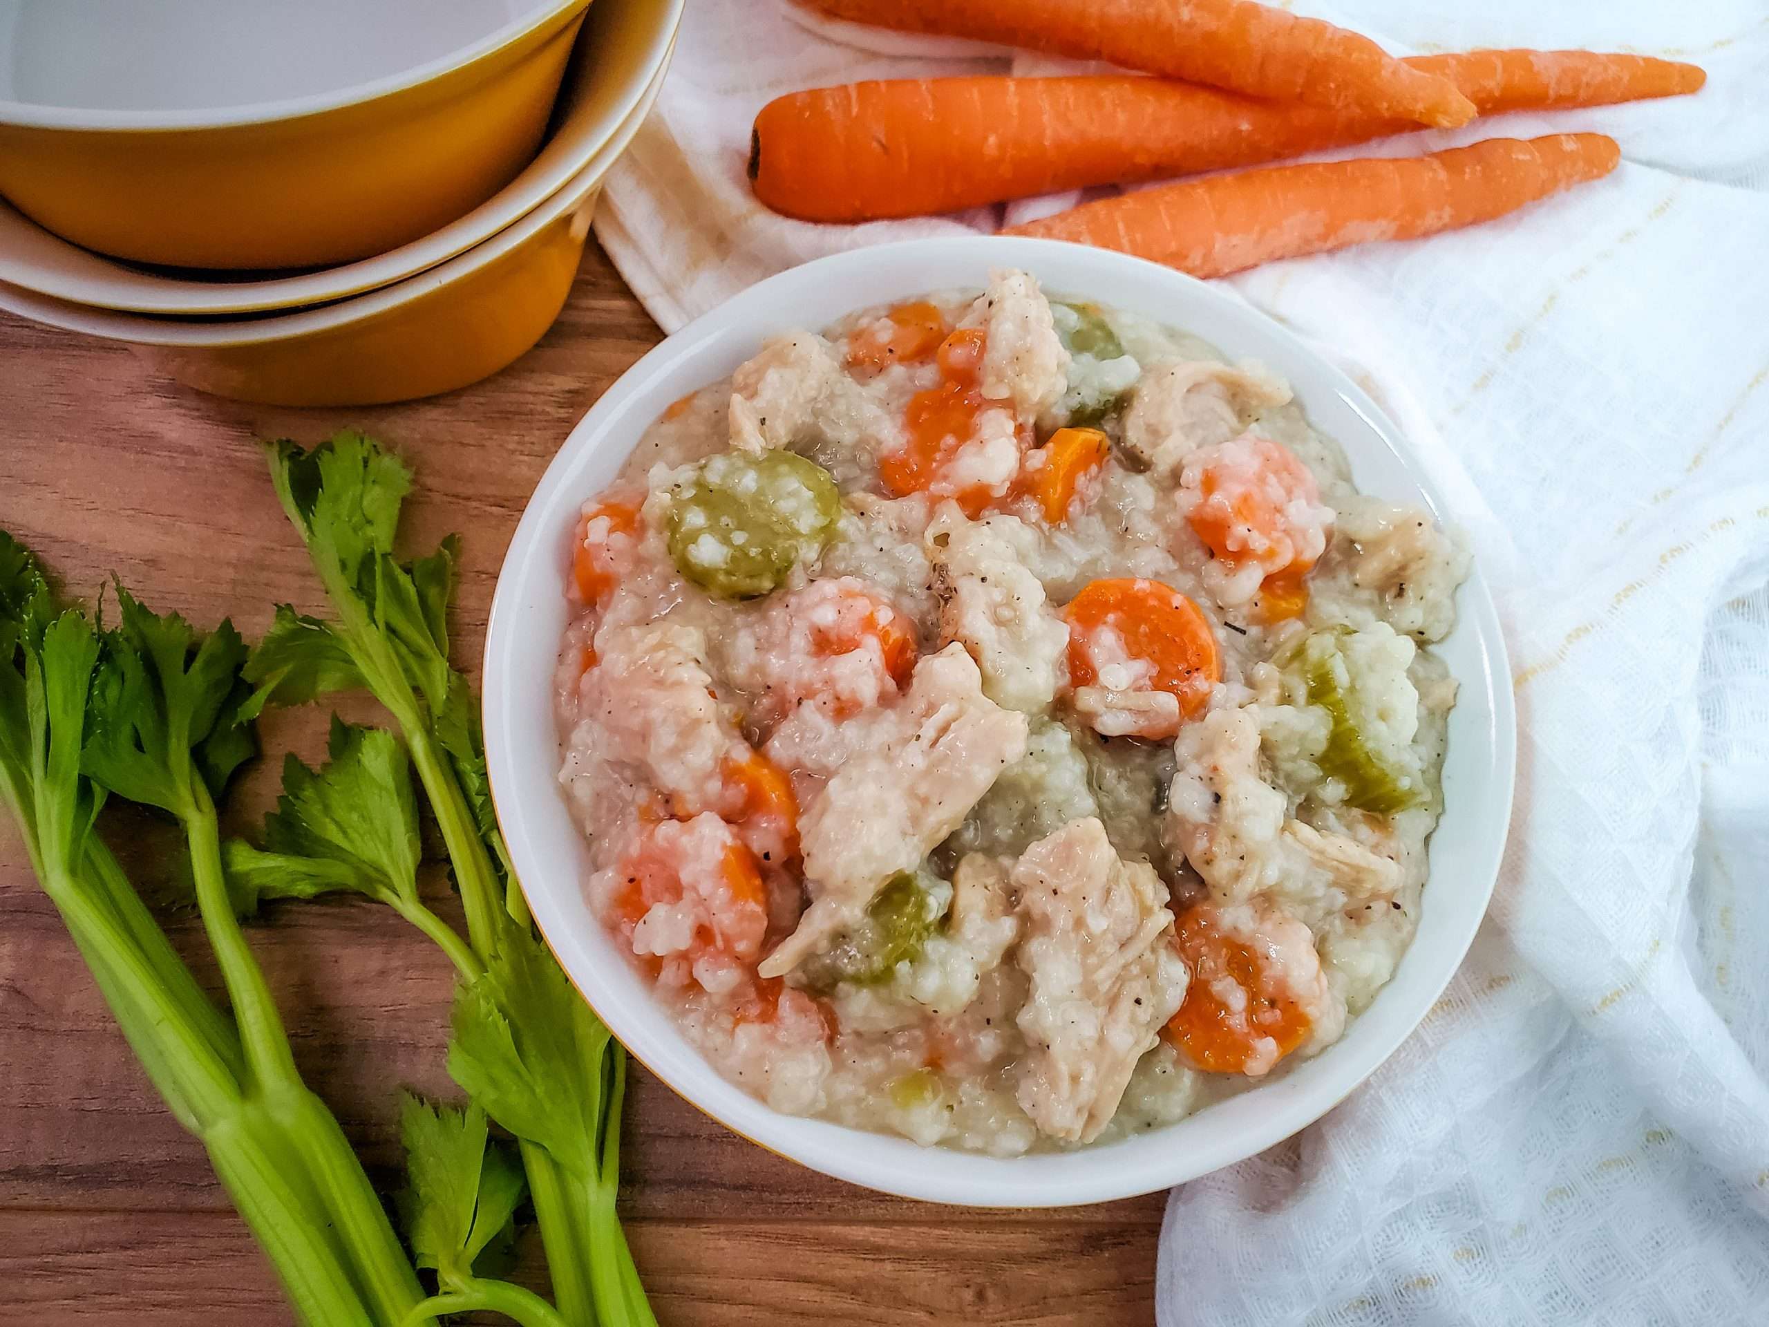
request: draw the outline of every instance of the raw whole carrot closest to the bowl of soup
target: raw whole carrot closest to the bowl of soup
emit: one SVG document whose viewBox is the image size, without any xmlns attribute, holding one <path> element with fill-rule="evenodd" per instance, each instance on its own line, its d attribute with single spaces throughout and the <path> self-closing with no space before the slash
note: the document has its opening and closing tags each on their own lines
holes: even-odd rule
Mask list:
<svg viewBox="0 0 1769 1327">
<path fill-rule="evenodd" d="M 1488 138 L 1424 157 L 1268 166 L 1166 184 L 1012 226 L 1226 276 L 1376 239 L 1417 239 L 1512 212 L 1615 170 L 1604 134 Z"/>
</svg>

